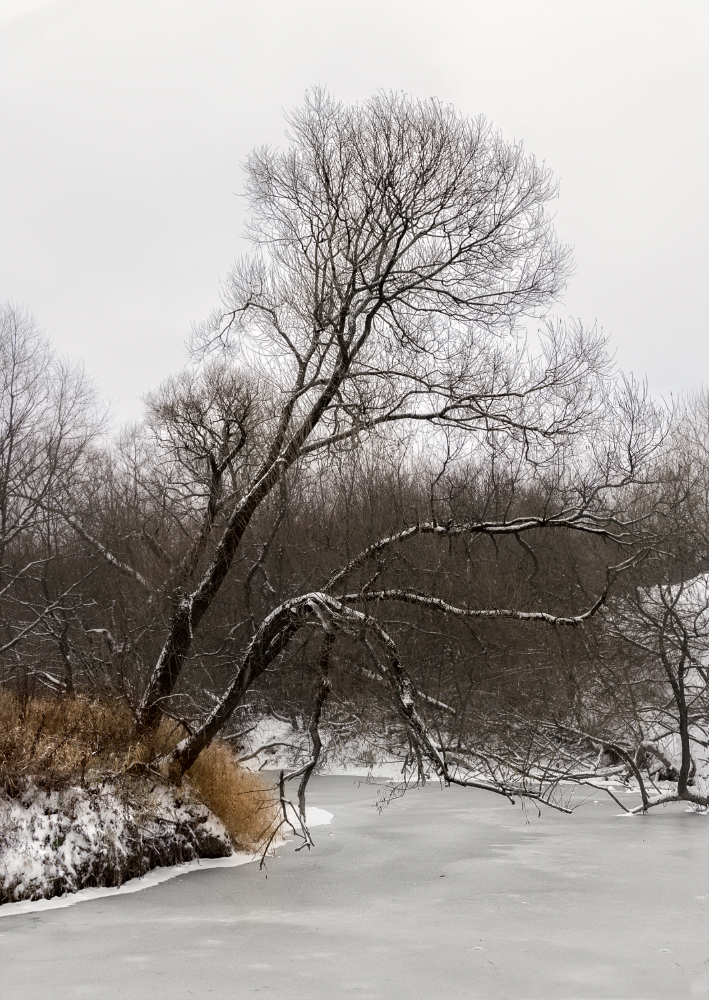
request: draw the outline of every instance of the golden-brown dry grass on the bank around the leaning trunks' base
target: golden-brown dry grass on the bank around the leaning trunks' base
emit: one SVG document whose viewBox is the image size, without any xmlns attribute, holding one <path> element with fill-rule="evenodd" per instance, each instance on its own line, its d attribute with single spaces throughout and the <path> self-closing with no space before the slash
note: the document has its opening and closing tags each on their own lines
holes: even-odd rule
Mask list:
<svg viewBox="0 0 709 1000">
<path fill-rule="evenodd" d="M 133 713 L 121 701 L 18 699 L 0 692 L 0 793 L 16 794 L 28 781 L 51 791 L 125 779 L 132 765 L 149 765 L 184 735 L 165 719 L 157 734 L 139 740 Z M 265 842 L 276 822 L 277 798 L 262 775 L 239 767 L 226 744 L 203 751 L 187 779 L 235 847 L 256 850 Z"/>
</svg>

